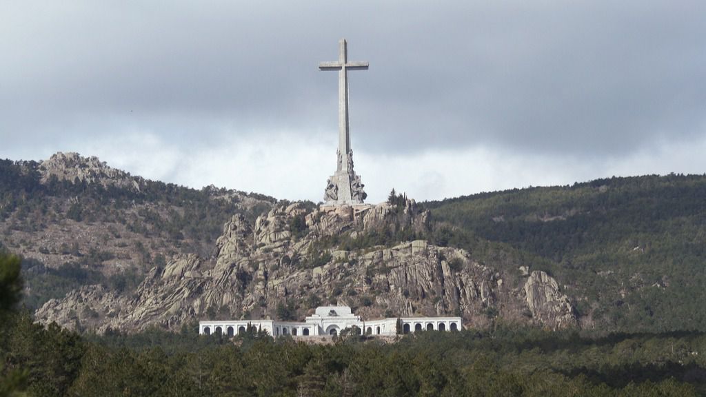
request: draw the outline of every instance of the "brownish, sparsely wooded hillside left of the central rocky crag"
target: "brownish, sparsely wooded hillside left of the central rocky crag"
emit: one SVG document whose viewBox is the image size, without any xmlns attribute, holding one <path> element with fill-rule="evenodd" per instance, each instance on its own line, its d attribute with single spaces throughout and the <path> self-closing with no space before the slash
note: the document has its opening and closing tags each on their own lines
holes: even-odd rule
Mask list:
<svg viewBox="0 0 706 397">
<path fill-rule="evenodd" d="M 81 285 L 131 292 L 175 254 L 212 254 L 235 213 L 254 219 L 274 202 L 132 177 L 76 153 L 0 160 L 0 249 L 24 257 L 23 303 L 37 309 Z"/>
</svg>

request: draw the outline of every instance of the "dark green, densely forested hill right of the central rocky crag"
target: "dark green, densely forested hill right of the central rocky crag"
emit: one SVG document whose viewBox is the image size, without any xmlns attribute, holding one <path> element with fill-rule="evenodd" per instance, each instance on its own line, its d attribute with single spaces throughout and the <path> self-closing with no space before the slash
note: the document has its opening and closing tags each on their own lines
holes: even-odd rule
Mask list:
<svg viewBox="0 0 706 397">
<path fill-rule="evenodd" d="M 457 244 L 505 244 L 554 275 L 584 326 L 706 329 L 706 175 L 613 177 L 424 205 L 462 230 Z"/>
</svg>

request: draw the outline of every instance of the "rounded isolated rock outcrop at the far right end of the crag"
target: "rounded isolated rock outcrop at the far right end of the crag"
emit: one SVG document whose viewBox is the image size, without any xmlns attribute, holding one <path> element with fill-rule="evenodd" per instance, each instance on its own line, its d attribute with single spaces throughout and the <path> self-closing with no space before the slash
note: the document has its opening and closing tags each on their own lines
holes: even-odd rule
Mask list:
<svg viewBox="0 0 706 397">
<path fill-rule="evenodd" d="M 559 285 L 543 271 L 533 271 L 525 283 L 527 307 L 540 324 L 552 328 L 576 326 L 575 310 L 569 298 L 559 291 Z"/>
</svg>

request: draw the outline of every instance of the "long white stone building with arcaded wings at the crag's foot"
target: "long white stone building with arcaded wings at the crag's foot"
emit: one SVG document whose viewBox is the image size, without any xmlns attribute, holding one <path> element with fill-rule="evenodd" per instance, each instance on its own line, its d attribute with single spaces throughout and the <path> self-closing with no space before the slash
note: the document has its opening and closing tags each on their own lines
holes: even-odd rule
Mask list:
<svg viewBox="0 0 706 397">
<path fill-rule="evenodd" d="M 458 331 L 462 328 L 460 317 L 400 317 L 402 333 L 416 331 Z M 248 326 L 266 331 L 275 338 L 282 335 L 318 336 L 338 335 L 345 328 L 357 327 L 366 335 L 395 335 L 397 318 L 364 321 L 347 306 L 321 306 L 304 322 L 274 320 L 230 320 L 199 321 L 198 333 L 210 335 L 221 333 L 235 336 L 246 331 Z"/>
</svg>

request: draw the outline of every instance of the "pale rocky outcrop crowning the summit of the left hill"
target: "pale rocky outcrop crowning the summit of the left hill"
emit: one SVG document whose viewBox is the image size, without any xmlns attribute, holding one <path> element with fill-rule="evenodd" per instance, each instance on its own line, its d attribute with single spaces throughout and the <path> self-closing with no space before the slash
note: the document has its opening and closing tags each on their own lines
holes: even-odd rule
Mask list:
<svg viewBox="0 0 706 397">
<path fill-rule="evenodd" d="M 42 182 L 50 178 L 68 182 L 85 182 L 86 184 L 101 184 L 102 186 L 117 186 L 124 189 L 140 191 L 140 178 L 131 177 L 127 172 L 108 167 L 97 157 L 81 157 L 78 153 L 56 153 L 49 160 L 40 163 Z"/>
</svg>

